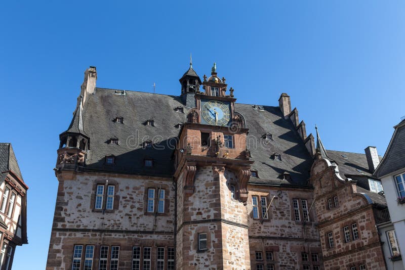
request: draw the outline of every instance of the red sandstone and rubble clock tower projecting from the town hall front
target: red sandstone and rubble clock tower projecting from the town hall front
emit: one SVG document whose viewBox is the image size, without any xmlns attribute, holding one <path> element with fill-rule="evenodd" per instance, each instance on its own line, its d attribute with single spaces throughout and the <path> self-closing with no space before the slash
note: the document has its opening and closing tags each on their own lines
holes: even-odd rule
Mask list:
<svg viewBox="0 0 405 270">
<path fill-rule="evenodd" d="M 249 269 L 248 129 L 216 64 L 196 89 L 175 151 L 177 269 Z"/>
</svg>

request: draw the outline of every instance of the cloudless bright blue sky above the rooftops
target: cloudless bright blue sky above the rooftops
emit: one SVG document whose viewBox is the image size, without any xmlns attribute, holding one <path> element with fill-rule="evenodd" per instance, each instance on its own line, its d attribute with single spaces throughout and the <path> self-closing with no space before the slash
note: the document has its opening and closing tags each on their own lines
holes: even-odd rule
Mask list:
<svg viewBox="0 0 405 270">
<path fill-rule="evenodd" d="M 140 2 L 141 3 L 141 2 Z M 59 133 L 84 71 L 97 85 L 179 95 L 178 79 L 213 62 L 237 102 L 291 96 L 327 149 L 384 154 L 405 115 L 403 1 L 3 1 L 0 142 L 28 190 L 28 241 L 13 269 L 44 269 L 58 181 Z"/>
</svg>

